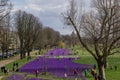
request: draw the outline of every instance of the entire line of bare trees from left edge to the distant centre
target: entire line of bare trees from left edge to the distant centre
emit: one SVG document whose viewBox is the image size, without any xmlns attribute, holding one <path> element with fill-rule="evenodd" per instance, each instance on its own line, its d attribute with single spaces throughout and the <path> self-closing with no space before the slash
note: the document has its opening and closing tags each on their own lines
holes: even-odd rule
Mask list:
<svg viewBox="0 0 120 80">
<path fill-rule="evenodd" d="M 68 45 L 76 44 L 75 33 L 61 35 L 43 26 L 37 17 L 25 11 L 19 10 L 11 15 L 12 4 L 9 0 L 0 0 L 0 6 L 0 47 L 3 58 L 10 49 L 19 49 L 22 59 L 30 56 L 33 48 L 40 50 L 57 47 L 60 41 Z"/>
</svg>

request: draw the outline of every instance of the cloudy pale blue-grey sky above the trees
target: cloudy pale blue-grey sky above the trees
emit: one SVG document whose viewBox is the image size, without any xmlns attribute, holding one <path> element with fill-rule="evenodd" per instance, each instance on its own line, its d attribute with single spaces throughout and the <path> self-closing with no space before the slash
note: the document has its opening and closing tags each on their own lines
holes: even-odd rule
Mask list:
<svg viewBox="0 0 120 80">
<path fill-rule="evenodd" d="M 61 13 L 65 12 L 69 0 L 10 0 L 13 4 L 12 12 L 23 10 L 38 17 L 42 24 L 51 27 L 61 34 L 71 34 L 72 29 L 63 24 Z M 80 1 L 80 0 L 79 0 Z M 89 5 L 90 0 L 84 0 Z"/>
</svg>

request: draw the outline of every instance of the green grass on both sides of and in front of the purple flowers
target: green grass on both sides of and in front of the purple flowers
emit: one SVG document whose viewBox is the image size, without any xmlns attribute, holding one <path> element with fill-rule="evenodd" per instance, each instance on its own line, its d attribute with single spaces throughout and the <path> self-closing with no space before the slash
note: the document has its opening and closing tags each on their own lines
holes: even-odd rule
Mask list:
<svg viewBox="0 0 120 80">
<path fill-rule="evenodd" d="M 77 51 L 78 52 L 77 55 L 80 56 L 79 60 L 75 60 L 76 63 L 96 64 L 96 61 L 94 60 L 94 58 L 84 49 L 75 48 L 74 51 Z M 15 62 L 18 62 L 19 67 L 21 67 L 23 64 L 27 63 L 27 59 L 25 58 L 23 60 L 17 60 Z M 7 66 L 7 68 L 11 69 L 11 65 L 13 65 L 13 63 L 10 63 L 6 66 Z M 116 70 L 116 71 L 114 69 L 115 65 L 117 65 L 117 67 L 118 67 L 118 70 Z M 112 66 L 113 69 L 110 69 L 110 66 Z M 106 71 L 107 80 L 120 80 L 120 77 L 119 77 L 119 75 L 120 75 L 120 54 L 116 54 L 116 55 L 108 57 L 108 68 L 105 71 Z M 12 73 L 10 73 L 9 75 L 11 75 L 11 74 Z M 24 73 L 17 73 L 17 74 L 24 75 Z M 84 73 L 83 73 L 83 75 L 84 75 Z M 30 75 L 28 75 L 28 77 L 33 78 L 33 77 L 35 77 L 35 75 L 30 74 Z M 49 74 L 47 74 L 47 75 L 41 75 L 40 74 L 39 78 L 48 78 L 48 79 L 51 79 L 51 80 L 64 80 L 62 78 L 51 76 Z M 4 78 L 2 80 L 6 80 L 6 79 Z M 74 79 L 70 79 L 70 80 L 74 80 Z M 87 77 L 86 80 L 94 80 L 94 79 L 93 79 L 92 75 L 90 74 L 90 76 Z"/>
</svg>

